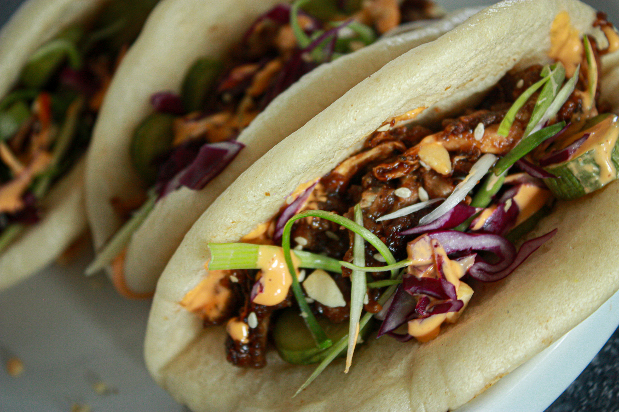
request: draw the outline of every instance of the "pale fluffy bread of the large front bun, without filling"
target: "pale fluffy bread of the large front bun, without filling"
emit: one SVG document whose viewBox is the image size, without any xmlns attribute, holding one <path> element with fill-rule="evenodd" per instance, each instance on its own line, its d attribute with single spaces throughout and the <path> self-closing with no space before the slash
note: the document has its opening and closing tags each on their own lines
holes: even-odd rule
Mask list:
<svg viewBox="0 0 619 412">
<path fill-rule="evenodd" d="M 301 182 L 326 174 L 391 119 L 428 107 L 415 122 L 448 116 L 477 101 L 513 68 L 547 63 L 550 27 L 568 12 L 590 33 L 591 7 L 575 0 L 504 1 L 436 41 L 418 46 L 353 87 L 246 170 L 201 216 L 157 285 L 145 359 L 158 384 L 194 411 L 423 411 L 463 405 L 548 347 L 619 287 L 619 183 L 559 203 L 532 236 L 558 233 L 517 271 L 496 284 L 476 285 L 461 320 L 428 343 L 368 338 L 351 371 L 335 361 L 295 398 L 313 371 L 277 353 L 264 369 L 228 364 L 225 330 L 203 328 L 178 302 L 200 282 L 209 242 L 236 242 L 271 218 Z M 614 95 L 617 54 L 604 58 L 602 100 Z M 436 110 L 435 110 L 436 109 Z M 311 141 L 311 144 L 308 144 Z M 270 196 L 266 196 L 269 193 Z M 610 233 L 609 233 L 610 231 Z"/>
</svg>

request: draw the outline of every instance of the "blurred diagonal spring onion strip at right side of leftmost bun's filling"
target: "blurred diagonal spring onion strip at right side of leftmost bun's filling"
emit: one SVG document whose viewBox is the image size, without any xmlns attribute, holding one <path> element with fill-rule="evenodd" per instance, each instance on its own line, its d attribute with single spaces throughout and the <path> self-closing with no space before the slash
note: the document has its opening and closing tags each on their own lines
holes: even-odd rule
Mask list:
<svg viewBox="0 0 619 412">
<path fill-rule="evenodd" d="M 83 108 L 84 98 L 82 96 L 76 98 L 69 105 L 67 114 L 64 117 L 63 126 L 58 133 L 58 138 L 56 139 L 54 149 L 51 153 L 51 162 L 32 188 L 32 193 L 37 199 L 41 199 L 46 195 L 47 191 L 50 189 L 52 180 L 58 175 L 58 166 L 69 150 L 73 138 L 76 136 L 77 125 Z"/>
</svg>

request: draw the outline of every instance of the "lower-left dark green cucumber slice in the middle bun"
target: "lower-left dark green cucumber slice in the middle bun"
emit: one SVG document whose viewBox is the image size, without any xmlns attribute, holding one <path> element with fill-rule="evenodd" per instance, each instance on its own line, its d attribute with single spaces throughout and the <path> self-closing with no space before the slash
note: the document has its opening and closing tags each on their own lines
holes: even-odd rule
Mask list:
<svg viewBox="0 0 619 412">
<path fill-rule="evenodd" d="M 137 127 L 133 136 L 131 162 L 137 173 L 149 184 L 157 178 L 155 161 L 172 146 L 174 119 L 170 114 L 152 114 Z"/>
</svg>

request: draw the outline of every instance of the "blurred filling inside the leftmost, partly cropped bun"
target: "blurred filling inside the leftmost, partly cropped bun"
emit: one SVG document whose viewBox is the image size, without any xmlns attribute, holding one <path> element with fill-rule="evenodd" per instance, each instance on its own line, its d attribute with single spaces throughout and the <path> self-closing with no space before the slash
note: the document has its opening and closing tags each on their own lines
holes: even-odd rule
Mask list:
<svg viewBox="0 0 619 412">
<path fill-rule="evenodd" d="M 84 153 L 113 73 L 156 3 L 113 1 L 64 29 L 0 102 L 0 251 L 40 219 L 40 201 Z"/>
</svg>

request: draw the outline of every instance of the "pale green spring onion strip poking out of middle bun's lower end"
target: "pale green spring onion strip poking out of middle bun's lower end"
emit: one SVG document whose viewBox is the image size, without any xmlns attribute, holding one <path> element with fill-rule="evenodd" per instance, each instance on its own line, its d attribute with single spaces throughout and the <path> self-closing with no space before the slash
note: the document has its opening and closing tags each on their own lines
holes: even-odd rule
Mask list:
<svg viewBox="0 0 619 412">
<path fill-rule="evenodd" d="M 149 191 L 149 197 L 142 204 L 141 208 L 137 209 L 136 213 L 124 224 L 121 229 L 116 232 L 113 238 L 105 245 L 102 251 L 100 251 L 95 260 L 89 264 L 86 268 L 85 275 L 90 276 L 104 267 L 108 266 L 121 251 L 129 244 L 133 232 L 144 222 L 150 211 L 155 207 L 155 201 L 157 201 L 157 193 L 155 191 Z"/>
</svg>

